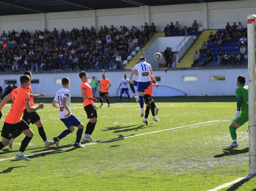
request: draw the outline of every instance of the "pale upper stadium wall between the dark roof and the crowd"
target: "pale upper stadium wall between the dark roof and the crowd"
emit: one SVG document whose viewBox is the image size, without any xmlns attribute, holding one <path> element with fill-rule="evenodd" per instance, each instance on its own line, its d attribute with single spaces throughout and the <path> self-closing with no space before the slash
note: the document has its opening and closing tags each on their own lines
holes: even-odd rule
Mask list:
<svg viewBox="0 0 256 191">
<path fill-rule="evenodd" d="M 73 27 L 81 29 L 82 26 L 94 26 L 98 31 L 100 26 L 108 28 L 114 25 L 117 29 L 125 25 L 128 29 L 136 26 L 138 29 L 145 22 L 155 23 L 156 30 L 164 30 L 166 24 L 179 21 L 181 28 L 191 27 L 197 20 L 199 27 L 204 29 L 223 29 L 226 22 L 241 21 L 246 26 L 247 15 L 254 14 L 256 4 L 254 0 L 196 3 L 183 5 L 141 6 L 134 8 L 102 9 L 90 11 L 70 11 L 45 14 L 8 15 L 0 16 L 0 31 L 5 30 L 21 32 L 27 29 L 34 33 L 35 29 L 52 31 L 54 27 L 71 30 Z"/>
</svg>

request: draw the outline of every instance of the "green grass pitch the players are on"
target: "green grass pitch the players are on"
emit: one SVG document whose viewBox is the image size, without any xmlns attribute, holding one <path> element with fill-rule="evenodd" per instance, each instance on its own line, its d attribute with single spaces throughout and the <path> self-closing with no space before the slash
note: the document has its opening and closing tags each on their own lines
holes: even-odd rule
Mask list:
<svg viewBox="0 0 256 191">
<path fill-rule="evenodd" d="M 29 162 L 0 161 L 0 190 L 209 190 L 248 174 L 248 123 L 237 130 L 239 147 L 225 148 L 232 142 L 228 127 L 235 97 L 155 98 L 161 121 L 153 123 L 150 113 L 149 126 L 142 123 L 139 103 L 118 100 L 110 98 L 110 108 L 103 100 L 97 108 L 92 138 L 103 142 L 82 141 L 85 148 L 72 148 L 76 131 L 62 139 L 59 148 L 45 148 L 31 125 L 35 135 L 25 155 L 38 154 L 29 156 Z M 52 99 L 35 99 L 41 101 L 46 104 L 39 115 L 52 140 L 65 126 Z M 2 109 L 1 126 L 10 106 Z M 86 126 L 81 98 L 71 98 L 71 111 Z M 170 130 L 156 132 L 165 129 Z M 23 137 L 14 140 L 13 149 L 1 150 L 0 160 L 15 157 Z M 41 153 L 45 151 L 50 152 Z M 254 177 L 222 190 L 254 190 L 255 185 Z"/>
</svg>

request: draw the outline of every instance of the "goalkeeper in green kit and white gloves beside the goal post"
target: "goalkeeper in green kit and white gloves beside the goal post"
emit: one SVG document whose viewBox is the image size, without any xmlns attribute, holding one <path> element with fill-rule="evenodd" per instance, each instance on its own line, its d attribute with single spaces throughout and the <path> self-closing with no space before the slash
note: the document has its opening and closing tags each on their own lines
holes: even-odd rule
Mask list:
<svg viewBox="0 0 256 191">
<path fill-rule="evenodd" d="M 232 123 L 229 126 L 229 131 L 233 143 L 228 148 L 238 147 L 236 140 L 236 129 L 245 124 L 248 121 L 248 86 L 245 85 L 245 77 L 237 77 L 236 99 L 237 99 L 237 110 L 235 116 L 231 119 Z M 241 112 L 240 112 L 241 110 Z"/>
</svg>

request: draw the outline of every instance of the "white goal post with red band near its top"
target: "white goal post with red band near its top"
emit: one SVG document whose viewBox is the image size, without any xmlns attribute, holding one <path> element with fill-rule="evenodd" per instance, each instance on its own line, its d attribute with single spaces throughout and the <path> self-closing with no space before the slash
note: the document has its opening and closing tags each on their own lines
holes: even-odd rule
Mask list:
<svg viewBox="0 0 256 191">
<path fill-rule="evenodd" d="M 256 174 L 256 99 L 255 99 L 255 21 L 247 17 L 248 41 L 248 111 L 249 111 L 249 174 Z"/>
</svg>

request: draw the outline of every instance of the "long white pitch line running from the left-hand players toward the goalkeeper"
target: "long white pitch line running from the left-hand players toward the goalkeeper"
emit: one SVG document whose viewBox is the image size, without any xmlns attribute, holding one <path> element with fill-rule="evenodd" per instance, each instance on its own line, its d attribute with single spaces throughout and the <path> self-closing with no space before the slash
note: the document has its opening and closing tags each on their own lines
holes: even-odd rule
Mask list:
<svg viewBox="0 0 256 191">
<path fill-rule="evenodd" d="M 179 128 L 183 128 L 183 127 L 189 127 L 189 126 L 194 126 L 194 125 L 201 125 L 201 124 L 212 123 L 212 122 L 217 122 L 217 121 L 220 121 L 220 120 L 206 121 L 206 122 L 202 122 L 202 123 L 195 123 L 195 124 L 191 124 L 191 125 L 174 127 L 174 128 L 170 128 L 170 129 L 163 129 L 163 130 L 159 130 L 159 131 L 142 133 L 142 134 L 138 134 L 138 135 L 131 135 L 131 136 L 122 137 L 122 138 L 110 139 L 110 140 L 107 140 L 107 141 L 99 141 L 99 142 L 94 142 L 94 143 L 87 143 L 87 144 L 83 144 L 83 145 L 87 146 L 87 145 L 98 144 L 98 143 L 106 143 L 106 142 L 117 141 L 117 140 L 121 140 L 121 139 L 125 139 L 125 138 L 137 137 L 137 136 L 141 136 L 141 135 L 148 135 L 148 134 L 152 134 L 152 133 L 169 131 L 169 130 L 172 130 L 172 129 L 179 129 Z M 60 150 L 67 150 L 67 149 L 71 149 L 71 148 L 74 148 L 74 147 L 66 147 L 66 148 L 62 148 L 62 149 L 48 150 L 48 151 L 44 151 L 44 152 L 29 154 L 29 155 L 26 155 L 26 156 L 34 156 L 34 155 L 38 155 L 38 154 L 42 154 L 42 153 L 51 153 L 51 152 L 56 152 L 56 151 L 60 151 Z M 7 159 L 0 159 L 0 161 L 9 160 L 9 159 L 15 159 L 15 157 L 7 158 Z"/>
</svg>

